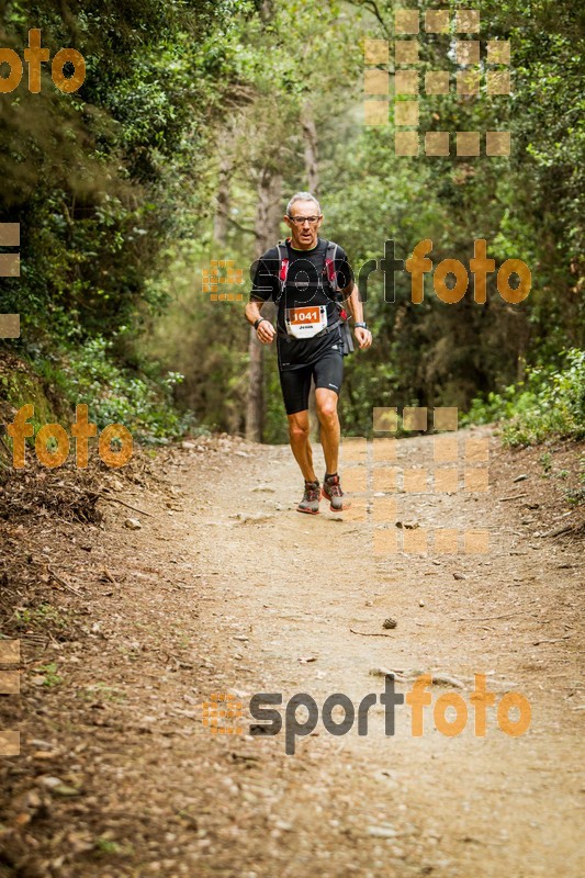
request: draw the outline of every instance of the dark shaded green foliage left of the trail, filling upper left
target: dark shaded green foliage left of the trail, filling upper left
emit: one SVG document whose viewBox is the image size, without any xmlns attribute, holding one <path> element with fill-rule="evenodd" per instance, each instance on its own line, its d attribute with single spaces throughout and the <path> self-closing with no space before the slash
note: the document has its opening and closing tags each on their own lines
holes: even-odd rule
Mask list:
<svg viewBox="0 0 585 878">
<path fill-rule="evenodd" d="M 177 376 L 140 353 L 166 304 L 149 281 L 183 213 L 205 213 L 196 169 L 234 77 L 230 64 L 220 80 L 205 70 L 206 48 L 221 55 L 235 14 L 254 10 L 246 0 L 2 4 L 2 45 L 22 56 L 41 27 L 52 55 L 71 46 L 87 64 L 75 94 L 57 92 L 43 65 L 41 93 L 25 74 L 0 95 L 0 218 L 19 222 L 22 239 L 21 277 L 0 289 L 0 311 L 21 314 L 10 345 L 99 424 L 121 420 L 153 441 L 187 421 L 171 409 Z"/>
</svg>

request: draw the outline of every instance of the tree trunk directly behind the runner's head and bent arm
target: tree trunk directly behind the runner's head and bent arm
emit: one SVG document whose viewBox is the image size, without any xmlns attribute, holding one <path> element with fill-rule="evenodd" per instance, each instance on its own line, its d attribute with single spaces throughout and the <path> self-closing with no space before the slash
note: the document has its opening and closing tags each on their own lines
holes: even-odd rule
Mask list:
<svg viewBox="0 0 585 878">
<path fill-rule="evenodd" d="M 281 212 L 282 178 L 268 169 L 262 169 L 258 178 L 258 209 L 256 213 L 256 258 L 258 259 L 279 237 Z M 273 307 L 273 306 L 272 306 Z M 268 308 L 268 305 L 265 305 Z M 263 431 L 263 350 L 254 327 L 250 327 L 249 383 L 246 407 L 246 439 L 261 442 Z"/>
</svg>

